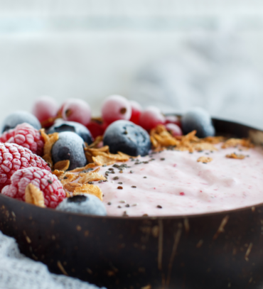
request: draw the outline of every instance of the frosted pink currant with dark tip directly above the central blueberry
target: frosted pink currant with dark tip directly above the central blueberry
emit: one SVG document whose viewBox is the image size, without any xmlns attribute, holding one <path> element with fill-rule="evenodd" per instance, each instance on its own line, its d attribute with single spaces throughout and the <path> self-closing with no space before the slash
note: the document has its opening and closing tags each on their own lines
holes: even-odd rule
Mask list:
<svg viewBox="0 0 263 289">
<path fill-rule="evenodd" d="M 119 119 L 129 120 L 132 116 L 132 107 L 129 100 L 120 95 L 110 95 L 102 104 L 102 119 L 107 124 Z"/>
</svg>

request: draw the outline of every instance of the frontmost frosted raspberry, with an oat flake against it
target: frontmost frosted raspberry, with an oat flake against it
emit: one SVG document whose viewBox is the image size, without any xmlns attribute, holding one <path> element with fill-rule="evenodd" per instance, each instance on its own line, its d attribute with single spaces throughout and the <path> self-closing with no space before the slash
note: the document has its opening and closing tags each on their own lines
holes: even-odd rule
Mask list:
<svg viewBox="0 0 263 289">
<path fill-rule="evenodd" d="M 58 178 L 50 171 L 41 168 L 18 170 L 11 176 L 11 185 L 6 185 L 2 194 L 24 201 L 26 186 L 30 183 L 43 192 L 46 207 L 55 208 L 65 199 L 65 191 Z"/>
</svg>

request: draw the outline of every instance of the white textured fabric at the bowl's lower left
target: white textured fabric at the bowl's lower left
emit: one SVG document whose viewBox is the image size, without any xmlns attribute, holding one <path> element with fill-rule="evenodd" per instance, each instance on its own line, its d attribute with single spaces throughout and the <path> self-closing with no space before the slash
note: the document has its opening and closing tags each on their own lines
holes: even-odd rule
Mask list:
<svg viewBox="0 0 263 289">
<path fill-rule="evenodd" d="M 43 263 L 23 256 L 18 250 L 16 240 L 0 231 L 0 289 L 98 289 L 98 287 L 75 278 L 50 273 Z"/>
</svg>

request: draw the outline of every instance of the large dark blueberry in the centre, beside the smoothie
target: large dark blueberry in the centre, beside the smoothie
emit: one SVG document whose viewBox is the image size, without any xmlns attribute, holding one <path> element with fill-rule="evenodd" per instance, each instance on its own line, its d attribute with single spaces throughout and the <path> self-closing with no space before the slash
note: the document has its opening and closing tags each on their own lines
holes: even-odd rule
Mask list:
<svg viewBox="0 0 263 289">
<path fill-rule="evenodd" d="M 114 121 L 104 133 L 104 146 L 111 153 L 127 153 L 129 156 L 146 156 L 151 149 L 149 134 L 131 121 Z"/>
</svg>

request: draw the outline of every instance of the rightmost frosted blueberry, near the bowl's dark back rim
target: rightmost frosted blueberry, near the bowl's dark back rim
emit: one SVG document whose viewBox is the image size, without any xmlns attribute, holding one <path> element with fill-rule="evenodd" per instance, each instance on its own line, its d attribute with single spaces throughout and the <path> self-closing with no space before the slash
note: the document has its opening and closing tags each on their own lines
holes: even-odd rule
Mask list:
<svg viewBox="0 0 263 289">
<path fill-rule="evenodd" d="M 190 133 L 196 130 L 196 136 L 205 138 L 206 136 L 215 136 L 215 128 L 208 111 L 200 107 L 190 109 L 181 119 L 183 133 Z"/>
</svg>

